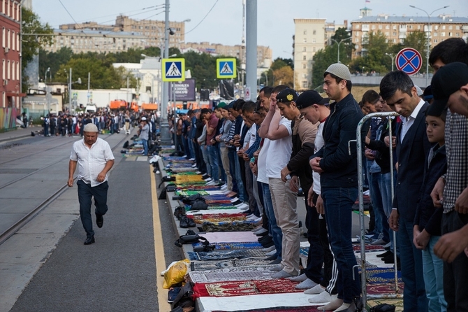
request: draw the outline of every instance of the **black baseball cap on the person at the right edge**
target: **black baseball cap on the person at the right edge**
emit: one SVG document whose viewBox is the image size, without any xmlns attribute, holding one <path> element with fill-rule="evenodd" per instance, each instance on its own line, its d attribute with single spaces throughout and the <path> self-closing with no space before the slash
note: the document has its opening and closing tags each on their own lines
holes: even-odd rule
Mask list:
<svg viewBox="0 0 468 312">
<path fill-rule="evenodd" d="M 432 77 L 432 95 L 434 101 L 427 110 L 428 115 L 439 116 L 447 106 L 451 94 L 468 83 L 468 65 L 453 62 L 442 66 Z"/>
</svg>

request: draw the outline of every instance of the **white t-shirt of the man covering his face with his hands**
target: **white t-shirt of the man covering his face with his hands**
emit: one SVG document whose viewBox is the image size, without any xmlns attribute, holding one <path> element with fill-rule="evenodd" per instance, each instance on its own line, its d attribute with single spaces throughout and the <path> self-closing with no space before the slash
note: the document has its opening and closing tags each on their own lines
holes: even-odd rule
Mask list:
<svg viewBox="0 0 468 312">
<path fill-rule="evenodd" d="M 268 154 L 266 156 L 266 173 L 268 178 L 281 178 L 281 170 L 288 164 L 291 159 L 291 153 L 293 152 L 293 140 L 291 135 L 293 130 L 291 129 L 291 120 L 281 118 L 279 120 L 279 126 L 283 125 L 288 129 L 289 135 L 283 139 L 270 141 L 268 147 Z"/>
</svg>

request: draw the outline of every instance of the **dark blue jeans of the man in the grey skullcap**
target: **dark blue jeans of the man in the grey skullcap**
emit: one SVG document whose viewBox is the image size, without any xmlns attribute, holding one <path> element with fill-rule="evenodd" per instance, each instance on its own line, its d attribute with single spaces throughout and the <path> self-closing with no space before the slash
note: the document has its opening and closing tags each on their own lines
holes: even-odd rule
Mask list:
<svg viewBox="0 0 468 312">
<path fill-rule="evenodd" d="M 353 222 L 351 214 L 353 204 L 358 197 L 358 187 L 322 187 L 321 197 L 325 208 L 330 246 L 338 267 L 338 298 L 349 304 L 354 297 L 360 295 L 358 268 L 355 267 L 356 256 L 351 243 Z"/>
</svg>

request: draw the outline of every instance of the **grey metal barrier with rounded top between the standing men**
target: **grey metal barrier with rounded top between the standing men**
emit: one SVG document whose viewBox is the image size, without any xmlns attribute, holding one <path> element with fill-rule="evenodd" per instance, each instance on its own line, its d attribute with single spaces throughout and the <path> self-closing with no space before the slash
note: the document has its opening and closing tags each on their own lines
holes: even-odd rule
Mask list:
<svg viewBox="0 0 468 312">
<path fill-rule="evenodd" d="M 360 257 L 361 257 L 361 289 L 363 292 L 363 311 L 367 311 L 367 279 L 366 279 L 366 268 L 365 268 L 365 225 L 364 225 L 364 194 L 363 194 L 363 141 L 361 137 L 361 127 L 366 120 L 374 117 L 391 117 L 391 116 L 398 116 L 400 114 L 395 112 L 388 112 L 388 113 L 370 113 L 365 115 L 363 119 L 360 120 L 358 123 L 358 127 L 356 129 L 356 153 L 358 153 L 358 199 L 359 199 L 359 218 L 360 218 Z M 391 144 L 391 137 L 392 137 L 392 122 L 388 122 L 389 128 L 389 136 L 390 136 L 390 184 L 391 184 L 391 197 L 393 201 L 393 150 Z M 354 141 L 354 140 L 353 140 Z M 351 143 L 349 141 L 348 145 Z M 351 155 L 351 147 L 349 148 L 349 155 Z M 394 260 L 394 269 L 395 269 L 395 293 L 391 295 L 370 295 L 369 297 L 372 299 L 383 299 L 383 298 L 400 298 L 402 297 L 401 294 L 398 293 L 398 274 L 397 274 L 397 253 L 396 253 L 396 237 L 395 232 L 393 232 L 393 241 L 395 243 L 394 246 L 394 253 L 393 253 L 393 260 Z"/>
</svg>

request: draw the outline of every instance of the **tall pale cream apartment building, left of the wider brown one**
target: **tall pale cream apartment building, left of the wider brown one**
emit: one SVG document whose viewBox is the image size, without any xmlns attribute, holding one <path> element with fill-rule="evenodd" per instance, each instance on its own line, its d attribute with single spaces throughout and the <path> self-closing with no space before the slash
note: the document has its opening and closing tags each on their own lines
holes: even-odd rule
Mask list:
<svg viewBox="0 0 468 312">
<path fill-rule="evenodd" d="M 312 59 L 326 45 L 324 18 L 294 19 L 293 36 L 294 89 L 307 90 L 312 86 Z"/>
</svg>

